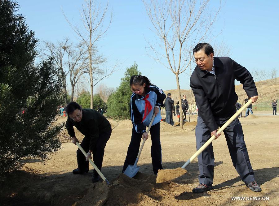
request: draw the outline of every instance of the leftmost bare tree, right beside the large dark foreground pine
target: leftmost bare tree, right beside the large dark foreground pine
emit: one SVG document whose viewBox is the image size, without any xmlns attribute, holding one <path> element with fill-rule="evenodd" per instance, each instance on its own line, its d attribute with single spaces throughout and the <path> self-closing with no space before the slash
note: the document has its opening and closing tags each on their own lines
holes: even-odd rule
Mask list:
<svg viewBox="0 0 279 206">
<path fill-rule="evenodd" d="M 47 58 L 49 56 L 54 57 L 56 66 L 60 69 L 63 81 L 63 93 L 64 93 L 64 103 L 67 103 L 67 88 L 66 88 L 66 76 L 69 73 L 65 68 L 64 55 L 66 49 L 69 46 L 69 39 L 65 38 L 62 41 L 58 41 L 57 44 L 51 43 L 49 41 L 43 41 L 43 46 L 40 48 L 41 58 Z"/>
</svg>

